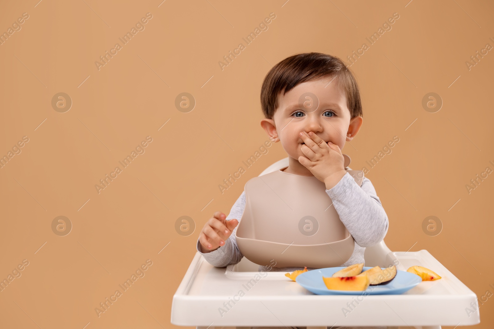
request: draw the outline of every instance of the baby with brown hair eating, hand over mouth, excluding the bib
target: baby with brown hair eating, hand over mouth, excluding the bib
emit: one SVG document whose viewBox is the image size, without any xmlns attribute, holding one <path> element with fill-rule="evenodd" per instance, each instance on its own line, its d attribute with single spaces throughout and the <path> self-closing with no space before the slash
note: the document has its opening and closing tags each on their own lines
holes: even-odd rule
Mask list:
<svg viewBox="0 0 494 329">
<path fill-rule="evenodd" d="M 301 99 L 307 99 L 308 104 Z M 261 106 L 265 116 L 262 128 L 288 153 L 288 167 L 283 171 L 323 182 L 340 220 L 355 240 L 352 255 L 338 266 L 364 263 L 366 247 L 386 235 L 388 218 L 371 181 L 365 177 L 359 186 L 344 168 L 341 149 L 353 140 L 363 122 L 353 74 L 343 61 L 327 54 L 290 56 L 264 78 Z M 228 216 L 218 211 L 204 225 L 197 250 L 210 264 L 225 267 L 242 259 L 235 233 L 245 205 L 244 191 Z M 299 269 L 303 267 L 259 266 L 259 271 Z"/>
</svg>

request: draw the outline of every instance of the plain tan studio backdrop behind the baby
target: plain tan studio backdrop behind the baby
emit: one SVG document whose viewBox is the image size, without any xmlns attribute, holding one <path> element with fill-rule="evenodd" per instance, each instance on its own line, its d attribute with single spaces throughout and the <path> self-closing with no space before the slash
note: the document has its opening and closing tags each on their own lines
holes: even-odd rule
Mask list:
<svg viewBox="0 0 494 329">
<path fill-rule="evenodd" d="M 392 30 L 351 67 L 364 125 L 343 152 L 361 169 L 398 136 L 366 175 L 389 217 L 386 244 L 426 249 L 479 299 L 494 293 L 493 174 L 471 193 L 465 187 L 494 169 L 494 53 L 471 70 L 465 64 L 487 43 L 494 46 L 492 2 L 160 3 L 1 4 L 0 32 L 29 14 L 0 46 L 0 155 L 29 138 L 0 169 L 0 277 L 29 261 L 0 292 L 1 328 L 174 327 L 172 296 L 204 223 L 215 211 L 228 214 L 244 184 L 286 156 L 279 143 L 272 146 L 219 192 L 218 184 L 268 139 L 259 125 L 265 74 L 300 52 L 346 60 L 395 12 Z M 94 62 L 147 12 L 153 18 L 145 30 L 98 71 Z M 271 12 L 268 30 L 222 71 L 222 57 Z M 73 101 L 65 113 L 51 106 L 59 92 Z M 182 92 L 196 100 L 188 113 L 174 105 Z M 444 102 L 435 113 L 422 107 L 429 92 Z M 146 136 L 153 141 L 145 153 L 98 194 L 94 185 Z M 70 219 L 70 234 L 54 234 L 57 216 Z M 187 237 L 175 231 L 181 216 L 196 224 Z M 428 216 L 441 220 L 439 235 L 422 230 Z M 145 276 L 98 318 L 94 308 L 146 259 L 153 265 Z M 476 328 L 493 327 L 493 310 L 487 298 Z"/>
</svg>

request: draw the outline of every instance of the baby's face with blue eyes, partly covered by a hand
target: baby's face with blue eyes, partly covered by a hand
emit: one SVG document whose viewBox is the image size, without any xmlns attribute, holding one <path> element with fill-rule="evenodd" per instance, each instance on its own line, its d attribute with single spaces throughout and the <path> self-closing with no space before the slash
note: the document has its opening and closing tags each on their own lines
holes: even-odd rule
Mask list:
<svg viewBox="0 0 494 329">
<path fill-rule="evenodd" d="M 326 143 L 343 149 L 350 125 L 350 110 L 344 91 L 336 79 L 321 78 L 300 83 L 285 95 L 278 96 L 273 120 L 280 142 L 289 156 L 303 155 L 300 132 L 314 132 Z M 319 103 L 319 104 L 318 104 Z"/>
</svg>

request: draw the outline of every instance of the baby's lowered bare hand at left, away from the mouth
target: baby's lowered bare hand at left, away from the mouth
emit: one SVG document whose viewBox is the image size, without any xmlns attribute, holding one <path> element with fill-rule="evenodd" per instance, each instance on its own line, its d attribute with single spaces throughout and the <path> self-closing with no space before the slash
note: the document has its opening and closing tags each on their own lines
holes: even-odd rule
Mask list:
<svg viewBox="0 0 494 329">
<path fill-rule="evenodd" d="M 224 246 L 225 240 L 230 237 L 238 223 L 237 219 L 226 220 L 225 214 L 215 212 L 199 234 L 201 253 L 209 253 Z"/>
</svg>

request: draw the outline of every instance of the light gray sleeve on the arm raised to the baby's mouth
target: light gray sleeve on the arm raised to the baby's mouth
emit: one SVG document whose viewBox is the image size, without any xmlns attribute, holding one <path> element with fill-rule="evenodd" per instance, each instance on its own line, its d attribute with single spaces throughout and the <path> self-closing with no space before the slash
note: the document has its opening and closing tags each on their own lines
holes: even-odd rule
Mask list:
<svg viewBox="0 0 494 329">
<path fill-rule="evenodd" d="M 326 193 L 359 246 L 371 247 L 384 239 L 388 232 L 388 216 L 367 177 L 359 186 L 347 172 Z"/>
</svg>

